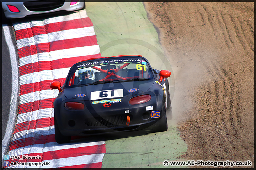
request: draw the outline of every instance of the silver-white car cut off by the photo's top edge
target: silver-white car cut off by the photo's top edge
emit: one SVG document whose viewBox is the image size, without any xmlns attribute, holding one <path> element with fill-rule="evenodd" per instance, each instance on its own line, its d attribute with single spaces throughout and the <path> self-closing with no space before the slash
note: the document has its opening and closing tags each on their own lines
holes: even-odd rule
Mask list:
<svg viewBox="0 0 256 170">
<path fill-rule="evenodd" d="M 2 9 L 6 18 L 24 18 L 28 15 L 63 10 L 75 11 L 84 8 L 84 0 L 23 0 L 23 2 L 2 2 Z"/>
</svg>

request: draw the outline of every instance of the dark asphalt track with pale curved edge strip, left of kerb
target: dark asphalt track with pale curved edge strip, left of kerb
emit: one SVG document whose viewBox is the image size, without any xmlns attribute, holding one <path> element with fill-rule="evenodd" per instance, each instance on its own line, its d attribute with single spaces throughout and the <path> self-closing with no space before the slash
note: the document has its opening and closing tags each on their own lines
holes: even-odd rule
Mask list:
<svg viewBox="0 0 256 170">
<path fill-rule="evenodd" d="M 9 148 L 8 144 L 17 119 L 19 89 L 14 31 L 7 22 L 2 28 L 2 154 L 4 155 Z"/>
</svg>

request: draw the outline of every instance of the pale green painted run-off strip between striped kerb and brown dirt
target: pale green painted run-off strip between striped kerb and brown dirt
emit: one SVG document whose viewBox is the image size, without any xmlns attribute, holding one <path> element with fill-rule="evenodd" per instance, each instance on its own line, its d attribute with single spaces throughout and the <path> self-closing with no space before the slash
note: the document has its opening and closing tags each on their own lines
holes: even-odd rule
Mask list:
<svg viewBox="0 0 256 170">
<path fill-rule="evenodd" d="M 142 3 L 87 2 L 86 11 L 94 24 L 101 56 L 141 54 L 148 58 L 156 69 L 171 68 L 170 64 L 166 63 L 166 59 L 161 57 L 163 52 L 161 52 L 158 33 L 153 24 L 148 21 Z M 171 81 L 174 79 L 173 76 L 169 81 L 170 88 L 174 90 L 174 81 Z M 171 93 L 173 96 L 174 91 Z M 92 137 L 87 138 L 86 141 L 98 141 L 99 145 L 105 145 L 106 153 L 102 160 L 102 168 L 163 168 L 164 160 L 177 160 L 182 153 L 186 152 L 186 144 L 179 137 L 176 126 L 170 120 L 168 123 L 169 129 L 166 132 Z M 69 145 L 68 149 L 86 147 L 85 139 L 75 142 L 76 144 Z M 48 149 L 49 152 L 52 152 L 51 149 L 58 151 L 58 146 L 53 144 L 44 146 L 44 150 Z M 54 152 L 56 153 L 58 152 Z M 54 158 L 57 157 L 58 155 L 55 155 Z M 52 167 L 61 165 L 56 161 L 52 164 L 54 164 Z"/>
</svg>

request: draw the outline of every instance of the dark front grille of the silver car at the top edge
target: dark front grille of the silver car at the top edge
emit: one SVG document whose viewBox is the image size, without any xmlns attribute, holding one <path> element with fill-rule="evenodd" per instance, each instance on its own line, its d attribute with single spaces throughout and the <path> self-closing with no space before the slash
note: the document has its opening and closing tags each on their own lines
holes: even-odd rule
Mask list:
<svg viewBox="0 0 256 170">
<path fill-rule="evenodd" d="M 64 2 L 65 0 L 39 0 L 32 2 L 24 2 L 23 4 L 30 11 L 43 12 L 55 10 L 61 7 L 64 4 Z"/>
</svg>

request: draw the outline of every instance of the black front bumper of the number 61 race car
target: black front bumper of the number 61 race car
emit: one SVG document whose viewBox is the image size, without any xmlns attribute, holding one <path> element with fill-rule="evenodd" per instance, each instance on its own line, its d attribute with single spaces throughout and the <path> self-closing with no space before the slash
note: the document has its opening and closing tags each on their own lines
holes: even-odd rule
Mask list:
<svg viewBox="0 0 256 170">
<path fill-rule="evenodd" d="M 69 99 L 66 99 L 61 103 L 59 112 L 55 111 L 55 117 L 60 132 L 66 136 L 136 131 L 154 126 L 165 116 L 165 113 L 162 112 L 162 100 L 156 101 L 156 96 L 154 96 L 143 104 L 129 105 L 128 101 L 123 101 L 122 103 L 111 103 L 111 106 L 107 108 L 103 106 L 103 103 L 91 104 L 90 101 L 80 101 L 84 103 L 85 109 L 71 111 L 64 107 L 64 103 L 70 102 Z M 152 106 L 153 110 L 147 110 L 147 106 Z M 151 118 L 152 111 L 159 111 L 159 117 Z M 128 126 L 126 125 L 127 115 L 130 118 Z"/>
</svg>

